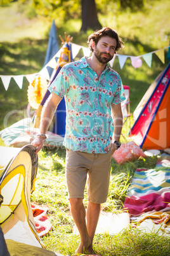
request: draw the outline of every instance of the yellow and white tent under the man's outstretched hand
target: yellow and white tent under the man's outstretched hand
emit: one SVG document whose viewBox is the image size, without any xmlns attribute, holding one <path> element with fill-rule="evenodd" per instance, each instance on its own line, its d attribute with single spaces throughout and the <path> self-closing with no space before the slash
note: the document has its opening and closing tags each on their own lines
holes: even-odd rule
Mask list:
<svg viewBox="0 0 170 256">
<path fill-rule="evenodd" d="M 5 239 L 10 255 L 23 255 L 23 252 L 28 256 L 60 255 L 44 248 L 34 222 L 30 194 L 34 191 L 37 174 L 35 151 L 32 145 L 22 148 L 0 146 L 0 254 L 3 246 L 6 249 Z"/>
</svg>

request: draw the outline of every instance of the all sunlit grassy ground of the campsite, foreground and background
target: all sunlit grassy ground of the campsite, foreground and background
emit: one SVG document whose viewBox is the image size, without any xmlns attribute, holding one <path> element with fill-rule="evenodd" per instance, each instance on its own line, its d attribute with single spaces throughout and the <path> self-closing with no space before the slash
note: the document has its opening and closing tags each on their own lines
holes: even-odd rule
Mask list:
<svg viewBox="0 0 170 256">
<path fill-rule="evenodd" d="M 147 4 L 150 6 L 147 6 L 145 13 L 125 11 L 117 15 L 112 10 L 107 17 L 99 17 L 101 24 L 112 25 L 124 39 L 125 47 L 121 54 L 138 56 L 169 45 L 169 1 L 148 1 Z M 7 15 L 8 19 L 6 19 Z M 31 18 L 32 16 L 34 18 Z M 5 8 L 0 7 L 0 19 L 0 75 L 26 75 L 40 71 L 44 63 L 51 22 L 36 18 L 32 8 L 22 7 L 18 2 L 11 3 Z M 74 37 L 74 43 L 86 46 L 86 40 L 91 31 L 79 32 L 80 20 L 69 20 L 64 25 L 56 20 L 56 25 L 58 35 L 63 35 L 63 32 L 67 31 Z M 163 64 L 155 54 L 152 57 L 152 68 L 148 68 L 143 60 L 141 68 L 134 69 L 128 58 L 124 68 L 121 69 L 119 60 L 115 59 L 114 69 L 121 75 L 124 85 L 130 85 L 131 113 L 148 86 L 166 66 L 167 59 Z M 9 89 L 6 91 L 0 81 L 0 130 L 4 129 L 4 120 L 9 126 L 26 117 L 27 87 L 26 78 L 23 80 L 22 90 L 11 79 Z M 124 133 L 126 131 L 128 128 L 124 129 Z M 124 141 L 123 138 L 121 139 Z M 3 141 L 0 143 L 3 145 Z M 153 168 L 156 162 L 157 157 L 148 157 L 119 166 L 113 159 L 110 194 L 102 209 L 121 211 L 135 169 L 137 167 Z M 70 255 L 77 247 L 79 237 L 72 233 L 74 224 L 69 212 L 64 168 L 65 150 L 63 148 L 42 150 L 39 153 L 36 192 L 32 194 L 31 199 L 37 204 L 49 206 L 49 220 L 53 229 L 48 236 L 42 238 L 44 244 L 49 250 Z M 86 197 L 84 203 L 87 204 Z M 116 236 L 109 236 L 107 233 L 96 235 L 95 250 L 101 255 L 168 256 L 170 255 L 170 249 L 167 246 L 169 242 L 169 237 L 158 236 L 154 232 L 141 233 L 129 227 Z"/>
</svg>

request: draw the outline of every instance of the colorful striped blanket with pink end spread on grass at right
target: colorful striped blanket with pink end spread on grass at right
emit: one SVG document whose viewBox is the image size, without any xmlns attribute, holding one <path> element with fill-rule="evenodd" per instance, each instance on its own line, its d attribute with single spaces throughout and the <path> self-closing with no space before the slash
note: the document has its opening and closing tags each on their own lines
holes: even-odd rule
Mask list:
<svg viewBox="0 0 170 256">
<path fill-rule="evenodd" d="M 170 211 L 170 155 L 163 153 L 155 169 L 136 169 L 124 210 L 132 216 Z"/>
</svg>

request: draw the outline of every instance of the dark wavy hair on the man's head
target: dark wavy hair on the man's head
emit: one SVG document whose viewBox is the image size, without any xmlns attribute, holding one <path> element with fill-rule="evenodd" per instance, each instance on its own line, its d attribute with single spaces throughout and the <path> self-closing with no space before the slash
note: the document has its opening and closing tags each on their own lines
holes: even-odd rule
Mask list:
<svg viewBox="0 0 170 256">
<path fill-rule="evenodd" d="M 95 42 L 95 45 L 97 45 L 98 41 L 102 36 L 110 36 L 110 38 L 114 38 L 117 41 L 117 45 L 115 48 L 115 51 L 119 50 L 120 48 L 124 47 L 124 43 L 121 38 L 119 38 L 117 32 L 114 29 L 110 29 L 110 27 L 103 27 L 102 29 L 93 32 L 88 38 L 88 46 L 91 52 L 93 52 L 92 43 Z"/>
</svg>

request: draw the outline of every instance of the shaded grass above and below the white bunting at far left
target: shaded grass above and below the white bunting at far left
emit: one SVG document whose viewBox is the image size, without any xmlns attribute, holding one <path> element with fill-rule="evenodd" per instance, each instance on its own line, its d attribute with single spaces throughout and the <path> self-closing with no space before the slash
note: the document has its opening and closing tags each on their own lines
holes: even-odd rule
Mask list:
<svg viewBox="0 0 170 256">
<path fill-rule="evenodd" d="M 44 64 L 47 45 L 47 39 L 23 39 L 18 43 L 0 43 L 0 75 L 29 75 L 39 72 Z M 28 86 L 29 82 L 25 77 L 22 89 L 11 78 L 6 91 L 0 80 L 0 130 L 5 128 L 3 123 L 7 116 L 10 116 L 8 126 L 27 117 Z"/>
</svg>

